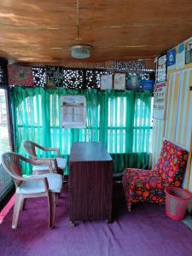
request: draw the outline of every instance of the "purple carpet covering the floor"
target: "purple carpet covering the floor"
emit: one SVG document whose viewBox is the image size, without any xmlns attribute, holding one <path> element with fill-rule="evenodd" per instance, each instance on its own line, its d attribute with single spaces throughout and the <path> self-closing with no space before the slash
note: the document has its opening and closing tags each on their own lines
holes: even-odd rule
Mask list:
<svg viewBox="0 0 192 256">
<path fill-rule="evenodd" d="M 113 224 L 69 224 L 68 193 L 56 208 L 55 229 L 48 229 L 45 198 L 26 202 L 18 230 L 11 230 L 12 210 L 0 225 L 0 255 L 14 256 L 191 256 L 192 232 L 165 215 L 165 207 L 137 205 L 127 212 L 120 187 L 114 190 Z"/>
</svg>

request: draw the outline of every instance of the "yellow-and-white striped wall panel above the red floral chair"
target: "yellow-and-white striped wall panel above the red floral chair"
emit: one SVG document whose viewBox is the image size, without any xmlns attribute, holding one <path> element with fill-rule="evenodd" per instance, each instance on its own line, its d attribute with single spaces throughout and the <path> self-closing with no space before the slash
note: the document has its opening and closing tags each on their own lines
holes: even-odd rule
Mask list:
<svg viewBox="0 0 192 256">
<path fill-rule="evenodd" d="M 171 73 L 168 82 L 165 137 L 189 150 L 192 126 L 192 69 Z"/>
</svg>

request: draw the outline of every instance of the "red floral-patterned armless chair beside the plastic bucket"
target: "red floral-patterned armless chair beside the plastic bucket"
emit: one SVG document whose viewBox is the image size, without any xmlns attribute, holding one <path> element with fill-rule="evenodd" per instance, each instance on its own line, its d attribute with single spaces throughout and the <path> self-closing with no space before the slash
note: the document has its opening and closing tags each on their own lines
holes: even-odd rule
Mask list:
<svg viewBox="0 0 192 256">
<path fill-rule="evenodd" d="M 123 188 L 127 207 L 131 203 L 162 203 L 166 187 L 180 187 L 188 160 L 188 152 L 165 140 L 154 170 L 125 169 Z"/>
</svg>

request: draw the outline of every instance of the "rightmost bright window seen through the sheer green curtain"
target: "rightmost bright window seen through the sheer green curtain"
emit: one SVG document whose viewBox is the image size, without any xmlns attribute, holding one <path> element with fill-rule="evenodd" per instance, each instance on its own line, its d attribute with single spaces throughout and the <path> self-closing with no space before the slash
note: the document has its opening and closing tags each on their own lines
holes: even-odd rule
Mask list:
<svg viewBox="0 0 192 256">
<path fill-rule="evenodd" d="M 131 104 L 127 97 L 108 99 L 108 152 L 148 152 L 152 134 L 152 97 L 138 97 Z M 151 147 L 149 148 L 149 152 Z"/>
</svg>

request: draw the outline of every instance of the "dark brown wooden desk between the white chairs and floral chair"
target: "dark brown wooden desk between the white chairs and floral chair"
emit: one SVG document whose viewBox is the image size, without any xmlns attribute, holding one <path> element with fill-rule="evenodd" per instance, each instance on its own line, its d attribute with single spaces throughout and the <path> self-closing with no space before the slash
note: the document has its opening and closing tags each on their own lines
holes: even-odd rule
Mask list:
<svg viewBox="0 0 192 256">
<path fill-rule="evenodd" d="M 102 143 L 73 143 L 69 157 L 70 221 L 112 220 L 113 160 Z"/>
</svg>

